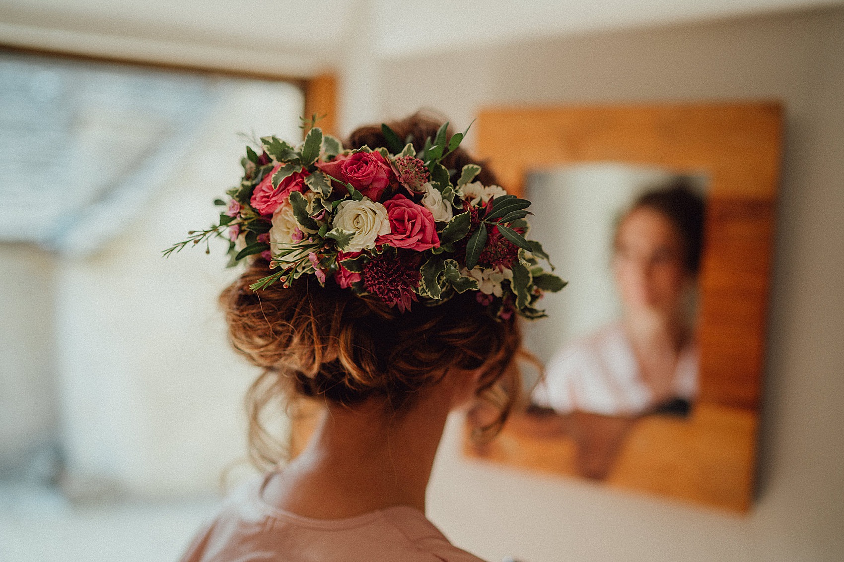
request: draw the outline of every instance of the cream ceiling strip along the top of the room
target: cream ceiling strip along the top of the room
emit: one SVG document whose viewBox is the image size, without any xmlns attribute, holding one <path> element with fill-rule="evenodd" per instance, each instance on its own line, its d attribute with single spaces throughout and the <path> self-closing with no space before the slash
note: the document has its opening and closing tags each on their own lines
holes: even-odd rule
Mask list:
<svg viewBox="0 0 844 562">
<path fill-rule="evenodd" d="M 726 19 L 844 0 L 0 0 L 0 43 L 324 67 L 525 37 Z M 134 51 L 133 51 L 134 49 Z M 157 51 L 156 51 L 157 50 Z M 158 54 L 156 54 L 158 53 Z M 95 54 L 95 53 L 90 53 Z M 266 64 L 265 64 L 266 66 Z"/>
</svg>

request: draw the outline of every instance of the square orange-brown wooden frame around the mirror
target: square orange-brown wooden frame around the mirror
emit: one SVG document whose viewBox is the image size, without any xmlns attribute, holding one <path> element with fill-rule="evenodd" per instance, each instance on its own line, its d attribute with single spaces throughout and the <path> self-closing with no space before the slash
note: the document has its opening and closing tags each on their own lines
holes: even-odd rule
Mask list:
<svg viewBox="0 0 844 562">
<path fill-rule="evenodd" d="M 528 173 L 566 164 L 648 165 L 709 178 L 698 398 L 688 419 L 637 420 L 606 482 L 747 511 L 755 476 L 781 106 L 499 107 L 481 111 L 475 127 L 476 154 L 517 195 Z M 505 429 L 488 446 L 467 440 L 464 451 L 517 467 L 576 474 L 573 444 L 555 439 Z"/>
</svg>

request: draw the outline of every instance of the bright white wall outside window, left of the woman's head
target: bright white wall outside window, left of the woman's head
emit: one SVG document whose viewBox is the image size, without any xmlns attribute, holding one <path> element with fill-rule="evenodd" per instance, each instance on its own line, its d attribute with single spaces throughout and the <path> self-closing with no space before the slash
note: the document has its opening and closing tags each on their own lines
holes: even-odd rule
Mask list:
<svg viewBox="0 0 844 562">
<path fill-rule="evenodd" d="M 212 224 L 214 198 L 237 185 L 238 132 L 299 138 L 300 91 L 225 81 L 176 174 L 119 239 L 68 258 L 57 276 L 57 354 L 70 485 L 136 495 L 219 489 L 246 456 L 242 399 L 257 370 L 235 355 L 217 295 L 240 269 L 212 253 L 161 251 Z"/>
</svg>

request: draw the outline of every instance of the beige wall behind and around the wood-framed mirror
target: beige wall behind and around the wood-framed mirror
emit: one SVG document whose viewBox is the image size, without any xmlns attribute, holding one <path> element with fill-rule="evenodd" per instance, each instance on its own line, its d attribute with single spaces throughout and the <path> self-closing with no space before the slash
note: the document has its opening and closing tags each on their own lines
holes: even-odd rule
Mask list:
<svg viewBox="0 0 844 562">
<path fill-rule="evenodd" d="M 445 87 L 444 87 L 445 86 Z M 779 99 L 759 499 L 744 517 L 441 450 L 430 516 L 490 560 L 844 559 L 844 10 L 439 51 L 386 62 L 381 108 L 465 127 L 491 104 Z"/>
</svg>

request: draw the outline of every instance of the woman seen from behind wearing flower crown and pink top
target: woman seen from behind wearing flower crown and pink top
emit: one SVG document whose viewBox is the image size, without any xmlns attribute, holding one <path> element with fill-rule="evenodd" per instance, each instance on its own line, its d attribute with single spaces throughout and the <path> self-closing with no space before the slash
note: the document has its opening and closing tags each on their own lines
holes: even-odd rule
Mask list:
<svg viewBox="0 0 844 562">
<path fill-rule="evenodd" d="M 392 147 L 398 152 L 397 139 L 408 139 L 414 150 L 405 148 L 402 157 L 368 149 L 329 156 L 278 186 L 270 186 L 268 178 L 284 167 L 281 163 L 273 167 L 267 153 L 251 153 L 252 165 L 245 162 L 248 189 L 235 195 L 229 208 L 234 220 L 226 222 L 240 224 L 236 237 L 250 228 L 261 230 L 260 221 L 271 220 L 265 240 L 273 240 L 273 247 L 225 289 L 220 301 L 235 349 L 264 369 L 247 402 L 253 457 L 269 470 L 261 482 L 225 503 L 197 535 L 184 562 L 479 560 L 452 546 L 425 518 L 425 489 L 450 411 L 485 397 L 497 410 L 491 418 L 473 418 L 493 430 L 506 419 L 515 398 L 508 391 L 519 387 L 514 359 L 521 336 L 513 312 L 533 311 L 528 304 L 541 291 L 527 287 L 530 295 L 517 297 L 517 284 L 511 281 L 511 268 L 522 267 L 518 247 L 500 231 L 506 222 L 513 231 L 523 231 L 518 222 L 523 213 L 508 214 L 506 220 L 499 213 L 496 222 L 493 201 L 503 192 L 490 187 L 495 178 L 489 170 L 480 170 L 471 184 L 464 181 L 466 174 L 477 173 L 474 162 L 462 149 L 452 150 L 445 132 L 446 127 L 420 116 L 390 127 L 363 127 L 352 133 L 350 149 Z M 421 155 L 426 139 L 429 146 L 433 139 L 434 149 L 425 153 L 435 160 L 431 169 L 439 155 L 447 154 L 440 173 L 446 174 L 448 186 L 441 183 L 437 193 L 431 187 L 434 174 L 427 176 L 421 159 L 408 158 Z M 309 159 L 308 143 L 290 162 Z M 325 154 L 330 144 L 322 146 Z M 260 180 L 263 167 L 272 170 Z M 322 206 L 311 205 L 319 198 L 316 190 L 285 183 L 296 173 L 322 173 L 334 181 L 330 189 L 321 187 Z M 284 190 L 289 193 L 275 206 L 273 197 Z M 453 208 L 445 205 L 450 196 L 463 197 L 463 202 L 451 199 Z M 526 206 L 518 201 L 510 197 L 508 205 Z M 349 215 L 349 209 L 359 209 L 358 214 Z M 256 213 L 264 219 L 253 219 Z M 384 217 L 389 221 L 379 222 Z M 434 231 L 423 228 L 435 224 Z M 463 238 L 452 229 L 461 224 Z M 331 226 L 339 230 L 328 231 Z M 344 250 L 326 250 L 334 247 L 331 232 Z M 323 234 L 324 240 L 307 246 Z M 259 236 L 254 238 L 256 252 L 261 250 Z M 295 241 L 283 241 L 290 237 Z M 514 240 L 523 243 L 521 235 Z M 295 262 L 298 254 L 292 249 L 305 246 L 327 253 L 309 251 Z M 238 248 L 234 251 L 240 256 Z M 448 260 L 438 262 L 443 253 L 453 255 L 463 273 Z M 385 259 L 393 260 L 386 268 Z M 528 254 L 522 259 L 535 261 Z M 396 273 L 408 262 L 414 265 Z M 271 265 L 306 274 L 290 273 L 281 278 L 281 287 L 257 290 Z M 397 292 L 408 278 L 409 290 Z M 302 397 L 324 403 L 324 413 L 305 450 L 282 466 L 262 427 L 261 411 L 269 403 L 295 404 Z"/>
</svg>

